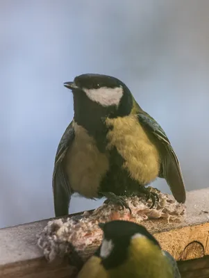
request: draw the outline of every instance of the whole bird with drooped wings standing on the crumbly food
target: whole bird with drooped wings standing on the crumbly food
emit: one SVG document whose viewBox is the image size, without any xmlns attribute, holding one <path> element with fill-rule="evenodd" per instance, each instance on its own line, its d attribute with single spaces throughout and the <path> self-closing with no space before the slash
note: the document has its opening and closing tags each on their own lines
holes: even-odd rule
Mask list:
<svg viewBox="0 0 209 278">
<path fill-rule="evenodd" d="M 73 93 L 74 119 L 56 152 L 56 216 L 68 214 L 73 193 L 107 197 L 126 208 L 124 196 L 146 195 L 154 205 L 158 196 L 144 186 L 157 177 L 166 179 L 178 202 L 185 202 L 181 167 L 169 139 L 122 81 L 82 74 L 64 85 Z"/>
</svg>

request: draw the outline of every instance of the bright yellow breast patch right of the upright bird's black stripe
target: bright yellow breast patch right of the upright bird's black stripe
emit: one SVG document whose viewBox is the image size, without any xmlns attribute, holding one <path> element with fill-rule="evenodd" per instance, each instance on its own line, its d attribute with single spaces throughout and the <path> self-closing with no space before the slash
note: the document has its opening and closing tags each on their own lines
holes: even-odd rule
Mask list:
<svg viewBox="0 0 209 278">
<path fill-rule="evenodd" d="M 140 184 L 156 179 L 160 169 L 160 156 L 156 145 L 151 142 L 136 115 L 107 119 L 110 129 L 107 134 L 108 149 L 116 147 L 124 158 L 123 167 Z"/>
</svg>

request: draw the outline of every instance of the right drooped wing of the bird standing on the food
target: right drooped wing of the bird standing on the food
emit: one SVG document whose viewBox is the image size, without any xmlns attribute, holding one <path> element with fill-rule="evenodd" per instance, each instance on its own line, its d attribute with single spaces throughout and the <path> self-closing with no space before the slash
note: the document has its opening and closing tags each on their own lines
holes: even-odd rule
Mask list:
<svg viewBox="0 0 209 278">
<path fill-rule="evenodd" d="M 140 124 L 144 126 L 144 131 L 152 133 L 156 139 L 158 145 L 160 158 L 161 158 L 161 170 L 159 177 L 166 179 L 169 188 L 178 202 L 185 202 L 185 185 L 183 182 L 183 176 L 181 174 L 181 167 L 178 158 L 169 142 L 165 131 L 148 113 L 137 113 Z"/>
</svg>

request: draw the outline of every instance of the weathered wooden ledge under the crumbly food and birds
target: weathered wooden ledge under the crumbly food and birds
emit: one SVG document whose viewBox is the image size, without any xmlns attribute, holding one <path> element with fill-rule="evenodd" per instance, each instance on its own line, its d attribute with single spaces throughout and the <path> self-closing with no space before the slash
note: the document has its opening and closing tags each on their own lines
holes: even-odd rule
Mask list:
<svg viewBox="0 0 209 278">
<path fill-rule="evenodd" d="M 154 220 L 143 224 L 153 231 L 162 248 L 178 259 L 182 277 L 209 277 L 209 188 L 187 193 L 186 205 L 185 222 Z M 37 247 L 36 235 L 49 220 L 0 229 L 1 278 L 69 277 L 66 261 L 48 263 Z"/>
</svg>

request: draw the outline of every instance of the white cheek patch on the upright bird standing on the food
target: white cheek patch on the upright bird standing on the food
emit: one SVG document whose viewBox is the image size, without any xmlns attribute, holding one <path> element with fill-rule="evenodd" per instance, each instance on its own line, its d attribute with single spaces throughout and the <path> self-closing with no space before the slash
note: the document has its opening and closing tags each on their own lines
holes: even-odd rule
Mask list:
<svg viewBox="0 0 209 278">
<path fill-rule="evenodd" d="M 118 106 L 123 95 L 122 86 L 117 88 L 101 87 L 99 89 L 82 89 L 87 97 L 92 101 L 96 101 L 102 106 L 116 105 Z"/>
</svg>

